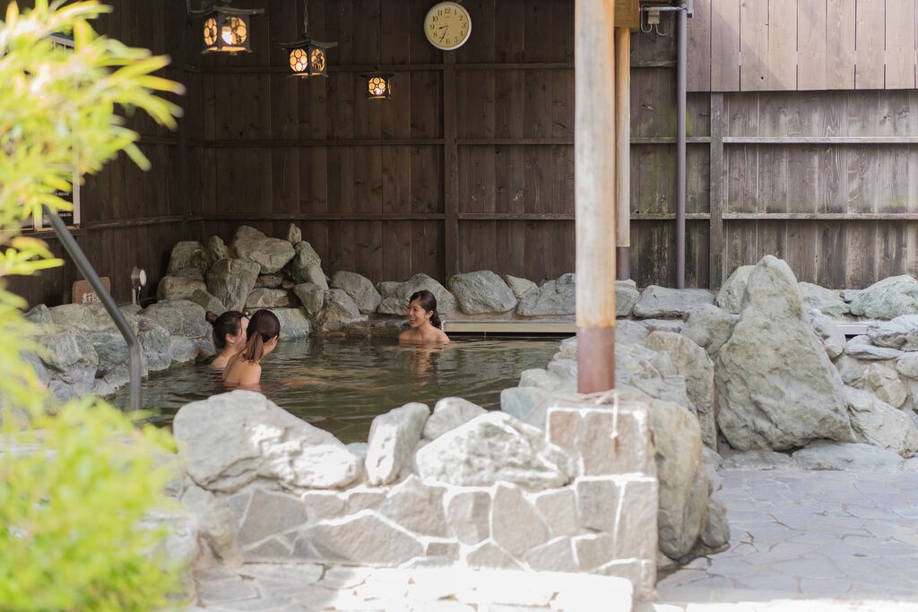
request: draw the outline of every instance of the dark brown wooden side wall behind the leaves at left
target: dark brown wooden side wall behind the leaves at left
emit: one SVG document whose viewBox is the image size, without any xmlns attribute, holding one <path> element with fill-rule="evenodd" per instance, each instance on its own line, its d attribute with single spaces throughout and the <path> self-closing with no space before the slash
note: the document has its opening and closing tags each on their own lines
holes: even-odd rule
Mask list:
<svg viewBox="0 0 918 612">
<path fill-rule="evenodd" d="M 96 30 L 130 46 L 170 54 L 173 66 L 162 75 L 191 85 L 184 69 L 189 58 L 184 0 L 106 0 L 106 4 L 115 10 L 95 23 Z M 141 113 L 128 115 L 128 125 L 142 135 L 140 150 L 152 162 L 151 171 L 141 172 L 122 155 L 97 176 L 88 177 L 81 192 L 83 227 L 73 231 L 98 273 L 111 278 L 112 293 L 120 302 L 130 300 L 129 275 L 135 265 L 155 283 L 165 273 L 176 241 L 203 236 L 200 220 L 189 222 L 195 218 L 195 203 L 188 198 L 183 130 L 160 128 Z M 46 239 L 66 264 L 28 278 L 11 277 L 10 286 L 30 304 L 69 301 L 71 286 L 81 276 L 53 233 L 37 236 Z M 143 295 L 154 293 L 151 286 Z"/>
</svg>

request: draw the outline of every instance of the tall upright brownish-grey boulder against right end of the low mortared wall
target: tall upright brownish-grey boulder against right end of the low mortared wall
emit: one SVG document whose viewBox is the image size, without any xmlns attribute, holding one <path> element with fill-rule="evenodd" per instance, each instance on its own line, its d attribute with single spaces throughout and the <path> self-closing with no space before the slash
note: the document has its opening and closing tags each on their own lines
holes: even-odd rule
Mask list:
<svg viewBox="0 0 918 612">
<path fill-rule="evenodd" d="M 701 455 L 698 419 L 685 406 L 653 400 L 656 474 L 659 480 L 658 546 L 684 557 L 707 523 L 709 483 Z"/>
</svg>

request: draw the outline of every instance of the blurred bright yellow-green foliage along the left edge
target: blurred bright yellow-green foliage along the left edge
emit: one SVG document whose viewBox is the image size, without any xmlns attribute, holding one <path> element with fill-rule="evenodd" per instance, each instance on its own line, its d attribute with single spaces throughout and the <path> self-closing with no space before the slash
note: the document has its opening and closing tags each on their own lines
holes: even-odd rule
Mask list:
<svg viewBox="0 0 918 612">
<path fill-rule="evenodd" d="M 0 21 L 0 612 L 161 609 L 178 590 L 164 566 L 161 530 L 141 527 L 168 506 L 170 450 L 162 431 L 139 428 L 94 398 L 55 406 L 25 352 L 40 353 L 27 306 L 4 278 L 60 265 L 23 219 L 70 205 L 56 197 L 77 174 L 97 172 L 118 152 L 149 162 L 116 111 L 139 108 L 174 127 L 180 109 L 157 92 L 182 87 L 154 76 L 169 62 L 99 37 L 96 2 L 36 0 Z M 55 50 L 52 33 L 73 33 Z"/>
</svg>

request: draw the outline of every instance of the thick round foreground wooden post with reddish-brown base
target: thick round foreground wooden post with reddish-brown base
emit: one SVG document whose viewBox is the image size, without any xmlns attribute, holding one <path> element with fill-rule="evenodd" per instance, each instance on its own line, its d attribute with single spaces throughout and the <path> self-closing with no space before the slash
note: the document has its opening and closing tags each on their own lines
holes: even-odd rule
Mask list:
<svg viewBox="0 0 918 612">
<path fill-rule="evenodd" d="M 577 389 L 615 388 L 615 1 L 574 8 Z"/>
</svg>

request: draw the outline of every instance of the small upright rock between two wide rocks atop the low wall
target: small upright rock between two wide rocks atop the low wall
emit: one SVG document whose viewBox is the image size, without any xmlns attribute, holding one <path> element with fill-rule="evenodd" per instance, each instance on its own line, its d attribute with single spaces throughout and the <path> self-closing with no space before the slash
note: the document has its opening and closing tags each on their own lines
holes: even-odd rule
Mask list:
<svg viewBox="0 0 918 612">
<path fill-rule="evenodd" d="M 397 478 L 430 416 L 430 408 L 414 403 L 373 419 L 364 459 L 370 484 L 389 484 Z"/>
</svg>

